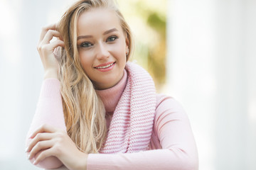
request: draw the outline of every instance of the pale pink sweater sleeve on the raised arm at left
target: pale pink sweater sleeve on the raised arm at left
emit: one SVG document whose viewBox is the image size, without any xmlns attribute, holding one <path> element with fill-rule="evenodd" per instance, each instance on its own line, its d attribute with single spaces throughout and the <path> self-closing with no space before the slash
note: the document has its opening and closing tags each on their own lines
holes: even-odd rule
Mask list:
<svg viewBox="0 0 256 170">
<path fill-rule="evenodd" d="M 26 137 L 26 147 L 31 139 L 30 135 L 36 131 L 41 125 L 53 125 L 56 128 L 65 128 L 65 120 L 63 116 L 63 105 L 60 94 L 60 81 L 58 79 L 45 79 L 41 86 L 41 93 L 36 106 L 36 113 L 33 116 L 31 126 Z M 31 159 L 33 163 L 34 159 Z M 45 169 L 58 168 L 63 163 L 56 157 L 47 157 L 37 166 Z"/>
</svg>

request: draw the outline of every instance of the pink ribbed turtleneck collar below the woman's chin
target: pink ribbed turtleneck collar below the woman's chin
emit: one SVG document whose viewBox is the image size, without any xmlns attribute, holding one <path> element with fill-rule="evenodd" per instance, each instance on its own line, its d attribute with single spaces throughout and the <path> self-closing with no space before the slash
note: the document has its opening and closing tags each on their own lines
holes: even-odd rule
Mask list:
<svg viewBox="0 0 256 170">
<path fill-rule="evenodd" d="M 127 84 L 127 71 L 124 69 L 124 75 L 122 79 L 110 89 L 96 90 L 96 93 L 102 99 L 102 102 L 105 105 L 105 110 L 107 113 L 114 112 L 114 109 L 117 107 L 119 98 L 122 96 L 122 92 Z"/>
</svg>

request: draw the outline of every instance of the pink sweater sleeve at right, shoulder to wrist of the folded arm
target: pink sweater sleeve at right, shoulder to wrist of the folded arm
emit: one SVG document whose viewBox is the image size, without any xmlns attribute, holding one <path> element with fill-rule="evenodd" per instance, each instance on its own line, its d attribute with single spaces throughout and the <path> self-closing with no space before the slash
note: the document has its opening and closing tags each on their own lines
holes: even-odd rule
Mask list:
<svg viewBox="0 0 256 170">
<path fill-rule="evenodd" d="M 87 170 L 198 169 L 198 153 L 191 125 L 174 98 L 157 96 L 152 138 L 161 145 L 156 147 L 159 149 L 130 154 L 89 154 Z"/>
</svg>

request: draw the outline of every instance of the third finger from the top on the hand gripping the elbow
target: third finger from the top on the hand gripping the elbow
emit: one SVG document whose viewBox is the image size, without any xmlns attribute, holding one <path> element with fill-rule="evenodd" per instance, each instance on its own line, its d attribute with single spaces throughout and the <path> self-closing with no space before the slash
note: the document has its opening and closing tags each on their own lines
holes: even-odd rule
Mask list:
<svg viewBox="0 0 256 170">
<path fill-rule="evenodd" d="M 36 143 L 35 146 L 31 149 L 31 152 L 29 153 L 28 159 L 32 159 L 38 152 L 41 150 L 46 150 L 48 148 L 53 147 L 54 141 L 53 140 L 43 140 Z"/>
</svg>

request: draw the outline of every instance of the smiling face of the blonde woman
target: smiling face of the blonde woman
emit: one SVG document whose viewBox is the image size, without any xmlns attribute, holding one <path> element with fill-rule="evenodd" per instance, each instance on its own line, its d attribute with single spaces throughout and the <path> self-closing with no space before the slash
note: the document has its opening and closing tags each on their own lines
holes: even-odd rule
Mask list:
<svg viewBox="0 0 256 170">
<path fill-rule="evenodd" d="M 81 13 L 77 43 L 82 68 L 97 89 L 122 79 L 129 41 L 114 11 L 95 8 Z"/>
</svg>

